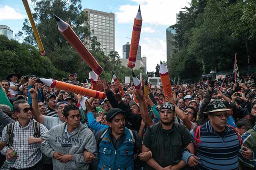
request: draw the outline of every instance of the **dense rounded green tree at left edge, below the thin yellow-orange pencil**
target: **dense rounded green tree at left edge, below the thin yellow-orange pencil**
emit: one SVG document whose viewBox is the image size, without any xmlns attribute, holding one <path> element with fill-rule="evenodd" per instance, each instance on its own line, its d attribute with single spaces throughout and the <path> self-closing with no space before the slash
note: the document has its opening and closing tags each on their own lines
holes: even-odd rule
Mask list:
<svg viewBox="0 0 256 170">
<path fill-rule="evenodd" d="M 57 79 L 67 76 L 65 72 L 58 71 L 49 58 L 40 56 L 34 46 L 8 40 L 3 35 L 0 35 L 0 65 L 1 79 L 6 79 L 6 76 L 12 72 Z"/>
</svg>

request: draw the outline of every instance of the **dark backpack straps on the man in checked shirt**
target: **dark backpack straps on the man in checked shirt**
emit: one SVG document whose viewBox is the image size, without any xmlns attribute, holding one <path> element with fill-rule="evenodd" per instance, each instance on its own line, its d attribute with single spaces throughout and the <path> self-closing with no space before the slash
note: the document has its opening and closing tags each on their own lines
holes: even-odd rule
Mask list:
<svg viewBox="0 0 256 170">
<path fill-rule="evenodd" d="M 13 134 L 13 130 L 14 130 L 14 123 L 10 123 L 7 124 L 6 126 L 6 144 L 7 146 L 12 146 L 13 144 L 13 138 L 14 138 L 14 134 Z M 35 138 L 39 138 L 40 137 L 40 123 L 33 121 L 33 128 L 34 128 L 34 134 L 33 136 Z"/>
</svg>

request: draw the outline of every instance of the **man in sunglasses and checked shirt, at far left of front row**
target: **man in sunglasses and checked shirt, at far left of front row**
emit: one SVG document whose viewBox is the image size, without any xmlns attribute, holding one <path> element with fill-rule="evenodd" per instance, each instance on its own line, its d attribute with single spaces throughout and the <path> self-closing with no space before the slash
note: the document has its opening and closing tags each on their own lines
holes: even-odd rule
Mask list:
<svg viewBox="0 0 256 170">
<path fill-rule="evenodd" d="M 39 144 L 28 144 L 28 138 L 34 135 L 32 108 L 26 100 L 18 100 L 13 106 L 18 121 L 14 124 L 14 137 L 12 146 L 5 146 L 1 154 L 6 155 L 6 160 L 15 157 L 16 160 L 10 165 L 10 170 L 42 170 L 42 152 Z M 1 141 L 6 142 L 6 127 L 2 132 Z M 47 128 L 40 124 L 40 135 L 47 132 Z M 16 151 L 16 155 L 13 152 Z"/>
</svg>

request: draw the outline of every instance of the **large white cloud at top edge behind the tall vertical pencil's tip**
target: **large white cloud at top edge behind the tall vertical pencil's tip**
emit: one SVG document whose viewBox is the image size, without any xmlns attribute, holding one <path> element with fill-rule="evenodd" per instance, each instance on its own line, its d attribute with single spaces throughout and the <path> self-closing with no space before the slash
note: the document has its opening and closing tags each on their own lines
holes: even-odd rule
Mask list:
<svg viewBox="0 0 256 170">
<path fill-rule="evenodd" d="M 176 14 L 184 6 L 189 6 L 190 0 L 131 0 L 140 4 L 142 23 L 167 25 L 176 23 Z M 138 5 L 121 5 L 116 12 L 118 23 L 128 24 L 134 21 Z"/>
</svg>

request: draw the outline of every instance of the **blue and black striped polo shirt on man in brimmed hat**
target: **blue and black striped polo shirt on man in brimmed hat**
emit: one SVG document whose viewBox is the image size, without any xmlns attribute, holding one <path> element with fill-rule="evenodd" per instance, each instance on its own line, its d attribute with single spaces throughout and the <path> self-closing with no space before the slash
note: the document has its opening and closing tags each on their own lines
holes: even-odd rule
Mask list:
<svg viewBox="0 0 256 170">
<path fill-rule="evenodd" d="M 200 163 L 196 170 L 238 170 L 239 139 L 236 132 L 226 125 L 223 138 L 212 128 L 210 121 L 201 126 L 200 143 L 196 156 Z M 192 134 L 195 144 L 194 132 Z M 198 135 L 197 135 L 198 136 Z"/>
</svg>

